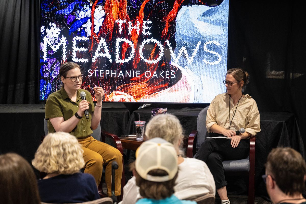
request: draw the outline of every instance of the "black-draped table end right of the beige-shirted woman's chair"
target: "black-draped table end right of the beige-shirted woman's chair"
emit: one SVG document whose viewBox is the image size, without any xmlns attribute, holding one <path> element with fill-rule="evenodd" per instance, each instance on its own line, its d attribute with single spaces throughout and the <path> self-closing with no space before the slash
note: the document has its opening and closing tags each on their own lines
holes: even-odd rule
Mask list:
<svg viewBox="0 0 306 204">
<path fill-rule="evenodd" d="M 256 194 L 267 196 L 261 176 L 264 164 L 273 148 L 292 147 L 305 158 L 305 147 L 293 113 L 260 112 L 261 131 L 256 136 L 255 184 Z"/>
</svg>

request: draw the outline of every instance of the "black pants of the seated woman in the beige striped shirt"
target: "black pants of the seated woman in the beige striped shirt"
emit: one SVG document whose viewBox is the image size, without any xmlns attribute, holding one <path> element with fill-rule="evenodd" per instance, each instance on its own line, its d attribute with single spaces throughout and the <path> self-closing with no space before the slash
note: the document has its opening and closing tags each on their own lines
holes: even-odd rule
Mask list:
<svg viewBox="0 0 306 204">
<path fill-rule="evenodd" d="M 214 176 L 216 189 L 227 185 L 222 161 L 244 159 L 250 153 L 249 139 L 241 139 L 235 148 L 231 146 L 231 141 L 226 138 L 206 138 L 194 156 L 194 158 L 200 159 L 207 164 Z"/>
</svg>

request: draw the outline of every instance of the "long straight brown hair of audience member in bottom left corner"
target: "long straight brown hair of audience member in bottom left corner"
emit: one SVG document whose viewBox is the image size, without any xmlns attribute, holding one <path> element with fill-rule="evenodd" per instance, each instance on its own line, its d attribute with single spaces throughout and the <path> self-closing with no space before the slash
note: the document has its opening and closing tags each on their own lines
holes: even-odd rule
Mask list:
<svg viewBox="0 0 306 204">
<path fill-rule="evenodd" d="M 18 154 L 0 155 L 0 203 L 40 204 L 34 171 Z"/>
</svg>

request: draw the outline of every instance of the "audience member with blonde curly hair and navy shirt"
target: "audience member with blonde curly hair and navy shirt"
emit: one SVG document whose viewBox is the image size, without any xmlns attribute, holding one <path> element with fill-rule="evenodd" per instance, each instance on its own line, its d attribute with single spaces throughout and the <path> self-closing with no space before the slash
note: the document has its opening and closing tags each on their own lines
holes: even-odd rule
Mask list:
<svg viewBox="0 0 306 204">
<path fill-rule="evenodd" d="M 77 203 L 99 199 L 93 176 L 81 173 L 83 150 L 75 136 L 48 134 L 38 147 L 32 165 L 47 176 L 38 181 L 42 202 Z"/>
</svg>

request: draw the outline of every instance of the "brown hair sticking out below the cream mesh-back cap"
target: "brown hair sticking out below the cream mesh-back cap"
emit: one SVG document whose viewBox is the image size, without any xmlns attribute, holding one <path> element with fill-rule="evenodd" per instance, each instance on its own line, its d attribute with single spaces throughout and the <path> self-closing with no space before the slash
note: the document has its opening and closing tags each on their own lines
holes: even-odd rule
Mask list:
<svg viewBox="0 0 306 204">
<path fill-rule="evenodd" d="M 168 175 L 166 171 L 161 169 L 153 169 L 149 171 L 148 174 L 152 176 Z M 175 186 L 175 180 L 177 178 L 177 173 L 173 179 L 164 182 L 154 182 L 154 181 L 145 180 L 141 178 L 141 176 L 139 176 L 137 171 L 135 171 L 135 177 L 136 177 L 136 185 L 139 186 L 139 193 L 144 198 L 162 200 L 174 194 L 174 186 Z"/>
</svg>

